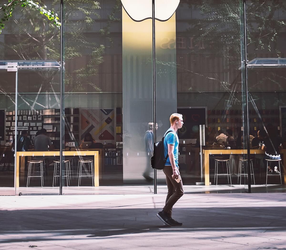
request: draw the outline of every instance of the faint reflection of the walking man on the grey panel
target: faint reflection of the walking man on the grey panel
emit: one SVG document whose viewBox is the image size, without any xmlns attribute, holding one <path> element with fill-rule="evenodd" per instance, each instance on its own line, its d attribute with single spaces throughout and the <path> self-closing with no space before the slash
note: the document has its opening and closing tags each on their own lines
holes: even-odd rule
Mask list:
<svg viewBox="0 0 286 250">
<path fill-rule="evenodd" d="M 158 129 L 158 124 L 156 123 L 156 130 Z M 142 174 L 146 180 L 152 180 L 153 178 L 150 176 L 152 168 L 150 164 L 150 159 L 153 156 L 154 150 L 154 123 L 148 123 L 148 130 L 145 132 L 144 135 L 144 143 L 147 155 L 147 164 L 144 173 Z"/>
</svg>

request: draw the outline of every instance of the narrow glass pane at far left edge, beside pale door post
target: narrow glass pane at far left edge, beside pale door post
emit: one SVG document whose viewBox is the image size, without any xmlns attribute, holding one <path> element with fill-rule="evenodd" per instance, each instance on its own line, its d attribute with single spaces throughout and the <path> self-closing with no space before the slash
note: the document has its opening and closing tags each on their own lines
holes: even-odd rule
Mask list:
<svg viewBox="0 0 286 250">
<path fill-rule="evenodd" d="M 16 72 L 0 69 L 0 195 L 15 195 L 15 91 Z"/>
</svg>

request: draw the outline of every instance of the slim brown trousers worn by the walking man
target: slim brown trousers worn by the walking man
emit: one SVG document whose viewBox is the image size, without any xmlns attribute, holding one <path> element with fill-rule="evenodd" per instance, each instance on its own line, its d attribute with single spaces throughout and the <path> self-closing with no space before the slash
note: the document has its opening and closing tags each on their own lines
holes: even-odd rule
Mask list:
<svg viewBox="0 0 286 250">
<path fill-rule="evenodd" d="M 174 179 L 172 179 L 172 166 L 165 166 L 163 172 L 166 175 L 166 183 L 168 187 L 168 194 L 164 206 L 164 211 L 168 213 L 170 217 L 172 217 L 173 206 L 184 194 L 183 182 L 180 181 L 178 183 Z"/>
</svg>

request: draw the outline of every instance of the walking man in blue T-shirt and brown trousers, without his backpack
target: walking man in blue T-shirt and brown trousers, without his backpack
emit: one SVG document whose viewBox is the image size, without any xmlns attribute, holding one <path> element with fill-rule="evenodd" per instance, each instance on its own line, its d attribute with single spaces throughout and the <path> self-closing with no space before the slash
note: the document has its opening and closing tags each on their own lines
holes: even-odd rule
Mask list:
<svg viewBox="0 0 286 250">
<path fill-rule="evenodd" d="M 168 154 L 168 159 L 163 169 L 166 175 L 168 194 L 165 206 L 161 212 L 157 213 L 157 216 L 164 222 L 164 225 L 181 226 L 182 223 L 172 218 L 172 208 L 178 199 L 180 199 L 184 194 L 183 183 L 178 166 L 179 138 L 176 134 L 177 130 L 184 124 L 182 115 L 177 113 L 172 114 L 170 116 L 170 123 L 171 127 L 166 131 L 165 135 L 168 131 L 171 132 L 169 132 L 164 138 L 164 153 L 165 156 Z"/>
</svg>

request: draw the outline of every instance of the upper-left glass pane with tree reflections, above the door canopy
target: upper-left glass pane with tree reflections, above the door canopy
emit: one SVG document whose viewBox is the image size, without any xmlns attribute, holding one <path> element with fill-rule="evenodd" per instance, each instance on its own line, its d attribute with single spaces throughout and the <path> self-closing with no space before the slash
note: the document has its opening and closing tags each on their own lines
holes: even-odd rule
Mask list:
<svg viewBox="0 0 286 250">
<path fill-rule="evenodd" d="M 0 1 L 0 6 L 5 1 Z M 40 1 L 48 10 L 60 14 L 59 1 Z M 60 15 L 59 15 L 60 17 Z M 0 38 L 1 60 L 58 60 L 60 30 L 36 8 L 16 7 L 5 21 Z"/>
</svg>

